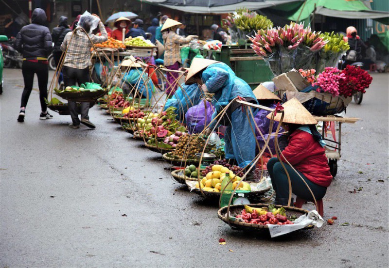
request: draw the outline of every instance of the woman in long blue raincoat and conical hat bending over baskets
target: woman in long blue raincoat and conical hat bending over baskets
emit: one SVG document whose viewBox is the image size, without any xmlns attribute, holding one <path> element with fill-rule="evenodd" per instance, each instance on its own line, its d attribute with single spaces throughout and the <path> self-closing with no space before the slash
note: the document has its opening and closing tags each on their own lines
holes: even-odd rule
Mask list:
<svg viewBox="0 0 389 268">
<path fill-rule="evenodd" d="M 207 59 L 197 59 L 192 61 L 188 75 L 185 79 L 186 84 L 197 83 L 201 85 L 204 92 L 213 93 L 212 105 L 215 112 L 212 119 L 229 104 L 229 102 L 240 96 L 247 102 L 258 104 L 255 95 L 250 86 L 242 79 L 238 78 L 231 68 L 217 61 Z M 224 152 L 227 159 L 235 159 L 241 168 L 246 167 L 255 158 L 255 130 L 254 119 L 248 109 L 241 104 L 234 102 L 227 110 L 227 120 L 222 120 L 223 125 L 227 126 L 225 133 Z M 256 110 L 251 109 L 255 116 Z M 248 114 L 247 114 L 248 113 Z M 214 120 L 207 129 L 207 134 L 216 126 L 217 120 Z"/>
</svg>

